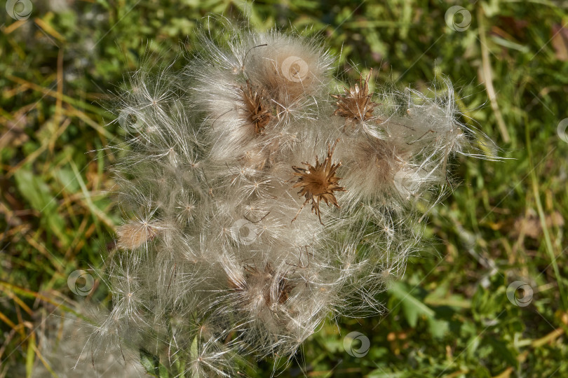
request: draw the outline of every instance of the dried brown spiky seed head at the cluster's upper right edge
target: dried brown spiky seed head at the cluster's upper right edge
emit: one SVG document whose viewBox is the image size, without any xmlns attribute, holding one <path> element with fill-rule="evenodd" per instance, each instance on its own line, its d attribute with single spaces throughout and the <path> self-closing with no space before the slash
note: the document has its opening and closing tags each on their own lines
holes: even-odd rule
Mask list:
<svg viewBox="0 0 568 378">
<path fill-rule="evenodd" d="M 333 112 L 334 116 L 346 118 L 346 123 L 354 124 L 369 120 L 373 116 L 376 102 L 372 102 L 372 94 L 369 93 L 369 76 L 363 79 L 363 75 L 359 77 L 358 83 L 354 87 L 345 88 L 345 94 L 332 94 L 337 99 L 337 109 Z"/>
</svg>

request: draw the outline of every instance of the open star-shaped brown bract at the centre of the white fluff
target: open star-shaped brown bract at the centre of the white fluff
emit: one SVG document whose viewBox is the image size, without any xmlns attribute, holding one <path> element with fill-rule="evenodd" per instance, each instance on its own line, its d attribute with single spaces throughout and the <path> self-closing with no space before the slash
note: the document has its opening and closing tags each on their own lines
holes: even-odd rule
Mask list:
<svg viewBox="0 0 568 378">
<path fill-rule="evenodd" d="M 298 214 L 302 211 L 302 209 L 304 209 L 304 206 L 311 201 L 311 211 L 316 212 L 316 215 L 322 225 L 320 202 L 325 202 L 327 206 L 330 206 L 331 203 L 335 207 L 339 208 L 334 192 L 346 192 L 345 188 L 339 186 L 339 180 L 341 180 L 341 177 L 337 177 L 335 174 L 337 172 L 337 168 L 341 167 L 342 163 L 338 162 L 336 164 L 332 164 L 333 151 L 335 151 L 335 146 L 338 141 L 339 139 L 334 142 L 333 147 L 331 145 L 327 146 L 327 157 L 323 160 L 323 162 L 320 163 L 318 156 L 316 156 L 315 166 L 307 162 L 302 163 L 308 167 L 307 169 L 292 166 L 292 169 L 294 169 L 294 176 L 298 176 L 297 181 L 292 188 L 301 188 L 298 194 L 306 198 L 306 201 L 302 204 Z M 295 221 L 296 218 L 297 216 L 292 219 L 292 221 Z"/>
</svg>

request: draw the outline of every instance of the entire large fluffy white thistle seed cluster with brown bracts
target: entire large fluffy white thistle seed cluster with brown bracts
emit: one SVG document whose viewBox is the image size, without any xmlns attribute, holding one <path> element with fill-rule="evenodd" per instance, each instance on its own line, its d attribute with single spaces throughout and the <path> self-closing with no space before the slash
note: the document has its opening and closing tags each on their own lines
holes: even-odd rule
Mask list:
<svg viewBox="0 0 568 378">
<path fill-rule="evenodd" d="M 361 76 L 335 109 L 334 59 L 301 34 L 224 22 L 196 50 L 181 73 L 137 71 L 121 97 L 122 249 L 93 334 L 172 376 L 231 377 L 249 356 L 291 358 L 325 318 L 381 311 L 473 132 L 449 83 L 371 93 Z"/>
</svg>

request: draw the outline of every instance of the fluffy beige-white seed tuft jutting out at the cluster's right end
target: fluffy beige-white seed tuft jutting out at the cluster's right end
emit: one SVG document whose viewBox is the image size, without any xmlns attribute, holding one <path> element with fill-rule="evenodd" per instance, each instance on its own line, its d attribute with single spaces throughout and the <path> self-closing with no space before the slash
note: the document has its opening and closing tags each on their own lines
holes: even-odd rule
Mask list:
<svg viewBox="0 0 568 378">
<path fill-rule="evenodd" d="M 421 201 L 431 208 L 452 185 L 448 175 L 452 157 L 469 155 L 475 144 L 487 140 L 459 121 L 461 113 L 449 80 L 442 80 L 441 87 L 433 83 L 428 91 L 379 87 L 377 94 L 369 92 L 367 97 L 382 118 L 374 125 L 370 125 L 372 118 L 353 119 L 351 128 L 343 129 L 349 148 L 338 149 L 337 156 L 344 162 L 339 172 L 347 188 L 358 188 L 345 195 L 349 208 L 362 201 L 390 202 L 398 209 Z M 344 99 L 342 106 L 347 110 L 340 115 L 349 114 L 349 106 L 360 102 L 352 100 Z"/>
</svg>

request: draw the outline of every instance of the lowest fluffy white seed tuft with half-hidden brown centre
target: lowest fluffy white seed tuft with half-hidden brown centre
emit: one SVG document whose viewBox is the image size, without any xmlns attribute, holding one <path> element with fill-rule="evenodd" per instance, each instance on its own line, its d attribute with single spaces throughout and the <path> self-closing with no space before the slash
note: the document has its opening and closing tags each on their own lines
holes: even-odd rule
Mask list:
<svg viewBox="0 0 568 378">
<path fill-rule="evenodd" d="M 326 298 L 331 290 L 309 288 L 306 275 L 317 274 L 306 271 L 321 269 L 309 261 L 273 266 L 261 260 L 243 265 L 235 257 L 224 256 L 222 266 L 227 289 L 212 304 L 215 316 L 240 318 L 235 328 L 238 339 L 254 345 L 257 356 L 288 355 L 303 341 L 304 337 L 298 340 L 299 334 L 311 335 L 330 311 Z M 229 304 L 232 311 L 228 311 Z M 313 328 L 306 332 L 306 325 Z"/>
</svg>

